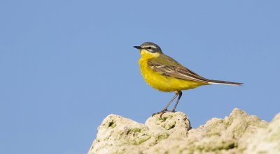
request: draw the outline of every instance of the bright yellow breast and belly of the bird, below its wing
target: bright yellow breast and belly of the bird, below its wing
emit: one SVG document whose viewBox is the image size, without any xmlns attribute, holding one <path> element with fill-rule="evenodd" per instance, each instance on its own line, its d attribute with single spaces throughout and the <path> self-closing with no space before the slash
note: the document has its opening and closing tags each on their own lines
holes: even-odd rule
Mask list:
<svg viewBox="0 0 280 154">
<path fill-rule="evenodd" d="M 159 72 L 155 72 L 152 70 L 152 68 L 148 67 L 148 61 L 144 57 L 139 60 L 139 65 L 141 68 L 141 73 L 147 84 L 155 89 L 158 89 L 159 91 L 182 91 L 196 88 L 197 86 L 206 85 L 202 82 L 193 82 L 190 80 L 161 75 Z"/>
</svg>

